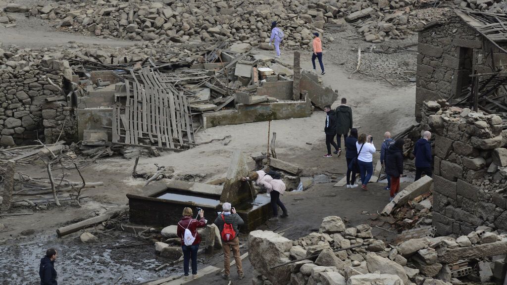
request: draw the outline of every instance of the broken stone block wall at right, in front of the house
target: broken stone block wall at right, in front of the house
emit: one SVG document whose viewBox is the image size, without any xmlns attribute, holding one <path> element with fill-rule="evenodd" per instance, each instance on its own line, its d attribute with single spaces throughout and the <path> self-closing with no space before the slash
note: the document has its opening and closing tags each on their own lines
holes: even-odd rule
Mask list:
<svg viewBox="0 0 507 285">
<path fill-rule="evenodd" d="M 442 104 L 442 105 L 441 105 Z M 507 231 L 507 130 L 497 115 L 423 103 L 434 142 L 433 225 L 440 235 L 478 226 Z"/>
</svg>

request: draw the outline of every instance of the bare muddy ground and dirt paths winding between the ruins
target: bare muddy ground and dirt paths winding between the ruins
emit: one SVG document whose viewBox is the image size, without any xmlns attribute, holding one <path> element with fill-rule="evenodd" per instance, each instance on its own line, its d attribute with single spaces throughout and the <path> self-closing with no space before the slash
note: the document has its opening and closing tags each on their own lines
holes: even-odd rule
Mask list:
<svg viewBox="0 0 507 285">
<path fill-rule="evenodd" d="M 0 1 L 0 6 L 2 2 Z M 1 8 L 1 7 L 0 7 Z M 0 42 L 4 45 L 16 44 L 26 47 L 45 47 L 65 44 L 69 41 L 108 46 L 125 46 L 132 42 L 104 40 L 85 37 L 79 34 L 56 32 L 46 22 L 21 16 L 16 20 L 17 27 L 6 29 L 0 27 Z M 343 37 L 353 33 L 351 29 L 332 32 L 334 41 L 324 40 L 324 64 L 327 74 L 322 76 L 324 85 L 338 90 L 339 99 L 346 97 L 352 106 L 354 126 L 360 132 L 374 136 L 374 143 L 380 150 L 381 137 L 386 130 L 399 132 L 414 123 L 415 84 L 410 83 L 410 71 L 415 70 L 415 52 L 403 54 L 365 53 L 365 65 L 376 73 L 386 74 L 396 69 L 406 73 L 409 78 L 391 78 L 393 84 L 379 77 L 354 74 L 350 79 L 358 46 L 368 49 L 372 45 L 364 41 L 346 40 Z M 397 47 L 415 43 L 415 37 L 405 41 L 386 42 L 382 45 Z M 258 51 L 271 54 L 270 51 Z M 311 54 L 302 51 L 302 67 L 311 70 Z M 292 52 L 282 49 L 280 59 L 292 63 Z M 394 86 L 393 86 L 394 85 Z M 333 108 L 339 105 L 339 100 Z M 276 151 L 280 159 L 292 162 L 304 169 L 304 175 L 312 176 L 324 172 L 345 173 L 345 158 L 323 158 L 325 114 L 315 110 L 309 118 L 279 120 L 271 122 L 271 131 L 277 133 Z M 231 151 L 241 149 L 247 157 L 248 164 L 253 167 L 250 155 L 259 155 L 266 151 L 268 123 L 250 123 L 231 125 L 202 130 L 196 134 L 198 142 L 231 135 L 231 142 L 224 146 L 223 141 L 196 147 L 182 153 L 164 152 L 161 157 L 140 159 L 138 172 L 153 172 L 154 163 L 172 166 L 176 177 L 193 174 L 201 177 L 200 181 L 208 181 L 223 177 L 227 171 Z M 377 154 L 378 155 L 378 154 Z M 7 231 L 0 232 L 0 284 L 38 284 L 39 260 L 48 247 L 58 249 L 56 263 L 60 284 L 107 284 L 118 276 L 122 279 L 118 284 L 135 284 L 142 280 L 150 280 L 182 272 L 182 265 L 177 264 L 156 272 L 154 268 L 169 262 L 157 257 L 153 245 L 112 249 L 112 246 L 131 242 L 146 242 L 131 233 L 110 231 L 98 233 L 99 242 L 83 244 L 79 240 L 82 231 L 58 238 L 55 229 L 71 224 L 84 218 L 94 217 L 107 209 L 125 205 L 128 192 L 142 187 L 145 181 L 133 179 L 131 171 L 133 160 L 111 157 L 99 160 L 93 165 L 82 169 L 87 182 L 103 182 L 104 186 L 85 189 L 81 206 L 75 202 L 63 202 L 62 207 L 54 204 L 40 205 L 33 209 L 33 215 L 5 217 L 0 220 Z M 19 165 L 18 170 L 30 173 L 32 177 L 46 177 L 42 164 Z M 21 170 L 20 170 L 21 169 Z M 68 170 L 69 179 L 79 181 L 79 175 Z M 335 179 L 341 179 L 336 174 Z M 383 190 L 385 184 L 371 184 L 370 191 L 333 187 L 334 183 L 314 185 L 304 192 L 286 193 L 282 201 L 289 210 L 289 217 L 278 223 L 268 223 L 262 229 L 284 229 L 288 238 L 298 238 L 318 229 L 323 217 L 337 215 L 347 219 L 350 225 L 371 223 L 372 214 L 381 210 L 388 201 L 388 191 Z M 16 208 L 14 212 L 29 212 L 31 209 Z M 86 229 L 94 232 L 94 229 Z M 388 232 L 374 228 L 374 234 L 389 238 Z M 244 243 L 246 236 L 242 236 Z M 247 250 L 247 245 L 242 251 Z M 222 267 L 222 255 L 200 255 L 199 267 L 209 264 Z M 252 268 L 248 260 L 244 260 L 246 278 L 235 280 L 232 270 L 233 284 L 250 284 Z M 227 284 L 218 275 L 202 277 L 192 284 Z"/>
</svg>

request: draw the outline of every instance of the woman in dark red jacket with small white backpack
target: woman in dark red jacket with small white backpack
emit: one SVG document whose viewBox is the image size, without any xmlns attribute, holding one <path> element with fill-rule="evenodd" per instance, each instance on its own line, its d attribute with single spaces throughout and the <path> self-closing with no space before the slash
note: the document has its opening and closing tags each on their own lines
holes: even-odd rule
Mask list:
<svg viewBox="0 0 507 285">
<path fill-rule="evenodd" d="M 206 220 L 204 219 L 204 210 L 200 209 L 199 220 L 193 219 L 192 209 L 186 207 L 183 209 L 183 218 L 178 222 L 176 234 L 182 239 L 183 250 L 183 271 L 185 272 L 184 280 L 189 279 L 189 263 L 192 260 L 192 279 L 197 279 L 197 251 L 199 250 L 199 243 L 201 236 L 197 232 L 198 228 L 206 227 Z"/>
</svg>

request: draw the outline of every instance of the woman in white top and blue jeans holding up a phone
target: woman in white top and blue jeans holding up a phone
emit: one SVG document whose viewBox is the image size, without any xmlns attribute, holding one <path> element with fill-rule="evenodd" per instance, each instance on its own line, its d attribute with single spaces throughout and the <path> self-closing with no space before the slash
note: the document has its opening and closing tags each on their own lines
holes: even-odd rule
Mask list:
<svg viewBox="0 0 507 285">
<path fill-rule="evenodd" d="M 361 133 L 357 142 L 357 164 L 361 173 L 361 189 L 368 190 L 368 182 L 373 174 L 373 154 L 376 152 L 371 135 Z"/>
</svg>

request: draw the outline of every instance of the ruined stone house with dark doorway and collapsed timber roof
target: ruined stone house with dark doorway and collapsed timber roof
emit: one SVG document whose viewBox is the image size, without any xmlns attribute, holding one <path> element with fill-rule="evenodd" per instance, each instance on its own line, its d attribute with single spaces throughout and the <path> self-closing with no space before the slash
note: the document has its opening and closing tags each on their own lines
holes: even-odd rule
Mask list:
<svg viewBox="0 0 507 285">
<path fill-rule="evenodd" d="M 424 101 L 447 99 L 468 84 L 472 70 L 491 73 L 507 67 L 507 54 L 470 28 L 454 12 L 447 21 L 419 32 L 416 82 L 416 119 Z M 493 53 L 493 57 L 491 57 Z M 493 61 L 491 60 L 493 58 Z"/>
</svg>

